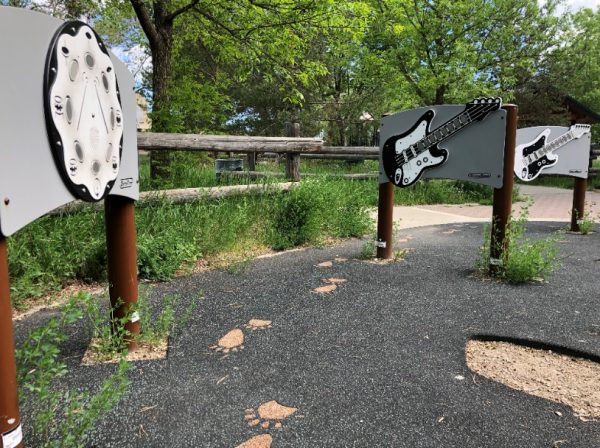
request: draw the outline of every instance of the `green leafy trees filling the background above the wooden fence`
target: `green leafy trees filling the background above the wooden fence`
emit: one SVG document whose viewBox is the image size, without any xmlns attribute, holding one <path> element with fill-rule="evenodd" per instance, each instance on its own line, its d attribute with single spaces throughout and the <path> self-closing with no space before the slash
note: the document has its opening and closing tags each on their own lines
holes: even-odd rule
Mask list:
<svg viewBox="0 0 600 448">
<path fill-rule="evenodd" d="M 93 22 L 152 65 L 153 129 L 365 144 L 385 112 L 487 95 L 600 110 L 600 12 L 560 0 L 1 0 Z M 555 117 L 556 118 L 556 117 Z M 556 118 L 558 119 L 558 118 Z"/>
</svg>

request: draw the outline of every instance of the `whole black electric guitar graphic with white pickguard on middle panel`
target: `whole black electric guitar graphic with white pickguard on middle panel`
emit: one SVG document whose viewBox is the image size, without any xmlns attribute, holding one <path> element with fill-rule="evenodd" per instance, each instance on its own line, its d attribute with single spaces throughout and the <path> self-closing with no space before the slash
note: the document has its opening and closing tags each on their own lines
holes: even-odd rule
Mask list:
<svg viewBox="0 0 600 448">
<path fill-rule="evenodd" d="M 440 143 L 483 120 L 501 105 L 500 98 L 476 98 L 466 104 L 464 111 L 434 130 L 430 126 L 435 111 L 428 110 L 407 132 L 393 135 L 383 144 L 381 157 L 386 176 L 397 187 L 414 184 L 423 171 L 448 159 L 448 151 L 440 148 Z"/>
</svg>

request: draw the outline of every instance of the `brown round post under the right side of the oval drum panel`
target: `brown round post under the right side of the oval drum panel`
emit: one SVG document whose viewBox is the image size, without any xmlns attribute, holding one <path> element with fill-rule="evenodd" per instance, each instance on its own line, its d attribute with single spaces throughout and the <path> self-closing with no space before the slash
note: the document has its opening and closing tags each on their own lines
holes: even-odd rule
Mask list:
<svg viewBox="0 0 600 448">
<path fill-rule="evenodd" d="M 122 196 L 107 196 L 104 200 L 106 219 L 106 249 L 110 303 L 117 319 L 130 315 L 138 299 L 137 249 L 134 201 Z M 137 349 L 140 332 L 139 316 L 133 314 L 125 324 L 129 336 L 129 351 Z"/>
</svg>

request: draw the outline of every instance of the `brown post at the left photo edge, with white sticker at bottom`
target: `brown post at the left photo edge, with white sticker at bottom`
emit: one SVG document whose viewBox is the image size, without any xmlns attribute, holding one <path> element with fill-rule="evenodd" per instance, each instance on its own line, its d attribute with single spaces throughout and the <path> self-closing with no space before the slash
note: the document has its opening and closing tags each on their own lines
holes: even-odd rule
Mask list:
<svg viewBox="0 0 600 448">
<path fill-rule="evenodd" d="M 0 446 L 22 447 L 22 438 L 8 254 L 6 239 L 0 235 Z"/>
</svg>

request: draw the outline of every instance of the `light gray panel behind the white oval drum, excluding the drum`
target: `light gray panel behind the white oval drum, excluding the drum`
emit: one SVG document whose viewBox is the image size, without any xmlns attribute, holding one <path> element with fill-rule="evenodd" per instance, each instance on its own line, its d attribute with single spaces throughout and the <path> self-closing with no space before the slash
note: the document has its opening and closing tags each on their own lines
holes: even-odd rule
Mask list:
<svg viewBox="0 0 600 448">
<path fill-rule="evenodd" d="M 53 160 L 44 117 L 46 55 L 62 21 L 0 6 L 0 233 L 12 235 L 49 211 L 75 200 Z M 123 109 L 123 152 L 109 194 L 138 199 L 133 78 L 111 55 Z"/>
</svg>

